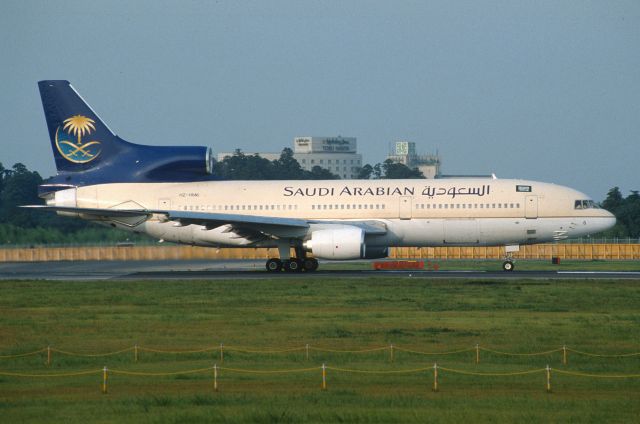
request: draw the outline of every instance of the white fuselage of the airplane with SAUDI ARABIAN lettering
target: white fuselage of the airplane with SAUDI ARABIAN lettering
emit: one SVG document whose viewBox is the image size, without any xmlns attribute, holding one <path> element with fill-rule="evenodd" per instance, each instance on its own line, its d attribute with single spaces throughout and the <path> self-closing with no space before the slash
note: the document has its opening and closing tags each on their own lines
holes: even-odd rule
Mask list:
<svg viewBox="0 0 640 424">
<path fill-rule="evenodd" d="M 303 240 L 327 225 L 371 220 L 385 226 L 386 234 L 367 235 L 367 245 L 420 247 L 543 243 L 613 225 L 609 212 L 576 206 L 587 199 L 554 184 L 464 178 L 102 184 L 58 192 L 49 204 L 298 218 L 311 221 L 305 233 L 291 234 Z M 277 244 L 268 238 L 245 238 L 226 225 L 176 225 L 159 215 L 144 222 L 109 223 L 201 246 Z"/>
</svg>

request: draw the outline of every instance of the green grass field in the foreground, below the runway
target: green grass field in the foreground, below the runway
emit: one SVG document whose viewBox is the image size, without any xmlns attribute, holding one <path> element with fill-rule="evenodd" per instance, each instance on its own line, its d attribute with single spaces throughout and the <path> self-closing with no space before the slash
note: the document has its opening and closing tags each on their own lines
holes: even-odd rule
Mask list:
<svg viewBox="0 0 640 424">
<path fill-rule="evenodd" d="M 433 366 L 470 372 L 541 369 L 640 374 L 640 357 L 561 352 L 504 356 L 475 352 L 426 356 L 395 346 L 444 352 L 481 346 L 540 352 L 564 344 L 594 353 L 640 351 L 640 281 L 491 281 L 418 278 L 189 282 L 0 282 L 0 355 L 53 348 L 77 353 L 138 344 L 166 350 L 228 347 L 190 354 L 133 352 L 107 357 L 54 353 L 0 359 L 0 371 L 48 374 L 78 370 L 171 372 L 218 366 L 244 370 L 314 368 L 296 374 L 223 369 L 175 376 L 0 376 L 2 422 L 637 422 L 640 379 L 595 379 L 552 371 L 474 376 L 431 370 L 409 374 L 328 371 L 320 366 L 399 371 Z M 312 346 L 254 354 L 234 351 Z"/>
</svg>

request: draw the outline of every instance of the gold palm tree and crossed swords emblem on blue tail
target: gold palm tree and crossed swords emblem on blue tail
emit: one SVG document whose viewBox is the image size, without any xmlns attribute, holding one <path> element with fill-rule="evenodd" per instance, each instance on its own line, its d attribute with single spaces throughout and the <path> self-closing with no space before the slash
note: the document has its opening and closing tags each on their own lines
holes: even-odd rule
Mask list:
<svg viewBox="0 0 640 424">
<path fill-rule="evenodd" d="M 102 151 L 99 141 L 84 141 L 82 137 L 96 130 L 95 121 L 82 115 L 65 119 L 56 130 L 56 147 L 69 162 L 87 163 L 100 155 Z"/>
</svg>

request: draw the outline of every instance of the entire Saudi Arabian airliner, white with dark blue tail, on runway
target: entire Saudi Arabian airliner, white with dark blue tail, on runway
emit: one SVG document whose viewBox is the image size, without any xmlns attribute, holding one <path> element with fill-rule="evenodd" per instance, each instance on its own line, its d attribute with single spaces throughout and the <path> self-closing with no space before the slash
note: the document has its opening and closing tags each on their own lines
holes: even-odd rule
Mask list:
<svg viewBox="0 0 640 424">
<path fill-rule="evenodd" d="M 36 207 L 175 243 L 277 247 L 268 271 L 383 258 L 392 246 L 506 246 L 510 271 L 519 245 L 615 224 L 587 195 L 535 181 L 221 181 L 210 149 L 129 143 L 69 82 L 38 85 L 58 173 Z"/>
</svg>

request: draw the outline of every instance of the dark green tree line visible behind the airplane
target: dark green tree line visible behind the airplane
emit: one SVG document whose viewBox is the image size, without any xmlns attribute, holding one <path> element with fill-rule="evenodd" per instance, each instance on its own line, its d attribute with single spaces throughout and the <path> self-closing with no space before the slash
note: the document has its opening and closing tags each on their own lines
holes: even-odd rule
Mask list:
<svg viewBox="0 0 640 424">
<path fill-rule="evenodd" d="M 286 148 L 276 160 L 259 155 L 245 155 L 240 150 L 216 162 L 214 175 L 226 180 L 331 180 L 339 179 L 319 166 L 311 171 L 302 169 Z M 359 179 L 424 178 L 417 169 L 387 160 L 366 164 L 358 170 Z M 61 217 L 51 212 L 21 209 L 20 205 L 43 204 L 37 195 L 43 179 L 36 171 L 16 163 L 5 169 L 0 163 L 0 245 L 52 243 L 115 243 L 149 240 L 120 230 L 102 228 L 80 219 Z M 609 190 L 600 204 L 616 215 L 617 224 L 602 237 L 640 238 L 640 194 L 632 190 L 623 196 L 618 187 Z"/>
</svg>

